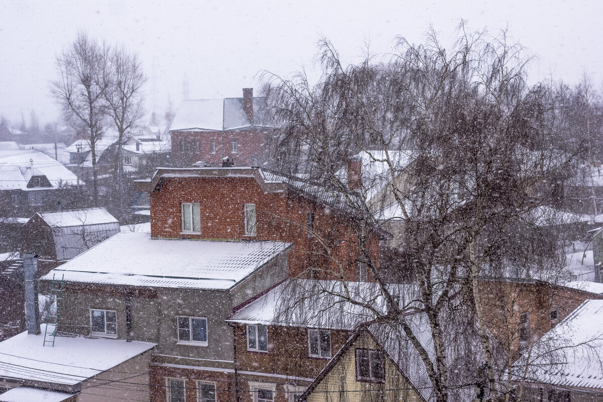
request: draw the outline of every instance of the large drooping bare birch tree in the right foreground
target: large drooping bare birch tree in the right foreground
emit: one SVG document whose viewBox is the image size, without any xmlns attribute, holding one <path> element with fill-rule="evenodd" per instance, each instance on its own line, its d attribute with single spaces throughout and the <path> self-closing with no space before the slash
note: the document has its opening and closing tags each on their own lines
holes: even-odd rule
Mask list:
<svg viewBox="0 0 603 402">
<path fill-rule="evenodd" d="M 280 125 L 271 139 L 275 165 L 309 175 L 354 211 L 358 260 L 378 284 L 368 299 L 335 293 L 377 321 L 403 328 L 438 402 L 450 400 L 453 373 L 461 369 L 449 354 L 450 339 L 469 333 L 478 337 L 485 364 L 462 369 L 476 380 L 485 375 L 492 397 L 505 393 L 479 278 L 560 280 L 563 249 L 539 220 L 553 202 L 553 184 L 572 174 L 575 157 L 552 145 L 563 143 L 550 127 L 554 94 L 543 84 L 526 84 L 525 49 L 505 31 L 468 33 L 464 24 L 458 38 L 451 49 L 433 30 L 425 45 L 400 38 L 390 60 L 367 55 L 351 66 L 341 64 L 324 39 L 316 85 L 304 73 L 265 75 Z M 358 153 L 372 170 L 357 178 L 342 174 Z M 370 248 L 383 229 L 392 235 L 387 270 Z M 388 285 L 392 273 L 410 278 L 413 298 Z M 327 291 L 314 293 L 320 292 Z M 459 300 L 472 308 L 461 308 Z M 428 318 L 435 360 L 406 321 L 409 309 Z"/>
</svg>

